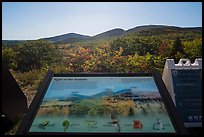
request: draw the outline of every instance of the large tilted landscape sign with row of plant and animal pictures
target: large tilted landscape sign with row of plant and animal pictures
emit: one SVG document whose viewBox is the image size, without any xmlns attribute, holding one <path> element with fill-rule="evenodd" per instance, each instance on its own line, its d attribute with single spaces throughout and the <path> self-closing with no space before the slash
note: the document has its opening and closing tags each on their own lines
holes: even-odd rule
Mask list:
<svg viewBox="0 0 204 137">
<path fill-rule="evenodd" d="M 26 133 L 179 133 L 159 89 L 150 74 L 53 74 Z"/>
</svg>

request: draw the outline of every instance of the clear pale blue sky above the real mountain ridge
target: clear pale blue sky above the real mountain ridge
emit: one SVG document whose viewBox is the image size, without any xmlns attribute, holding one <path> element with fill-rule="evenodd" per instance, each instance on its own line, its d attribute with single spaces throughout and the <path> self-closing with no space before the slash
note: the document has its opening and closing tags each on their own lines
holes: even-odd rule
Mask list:
<svg viewBox="0 0 204 137">
<path fill-rule="evenodd" d="M 202 27 L 202 2 L 3 2 L 2 39 L 93 36 L 141 25 Z"/>
</svg>

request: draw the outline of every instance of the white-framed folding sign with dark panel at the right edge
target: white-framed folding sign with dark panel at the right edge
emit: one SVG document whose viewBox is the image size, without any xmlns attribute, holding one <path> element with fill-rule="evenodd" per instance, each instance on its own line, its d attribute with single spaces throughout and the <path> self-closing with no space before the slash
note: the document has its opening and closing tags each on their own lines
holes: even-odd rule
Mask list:
<svg viewBox="0 0 204 137">
<path fill-rule="evenodd" d="M 184 61 L 186 63 L 183 63 Z M 167 60 L 163 80 L 185 126 L 201 127 L 202 59 L 195 60 L 194 64 L 186 59 L 180 60 L 178 64 L 174 64 L 173 60 Z"/>
</svg>

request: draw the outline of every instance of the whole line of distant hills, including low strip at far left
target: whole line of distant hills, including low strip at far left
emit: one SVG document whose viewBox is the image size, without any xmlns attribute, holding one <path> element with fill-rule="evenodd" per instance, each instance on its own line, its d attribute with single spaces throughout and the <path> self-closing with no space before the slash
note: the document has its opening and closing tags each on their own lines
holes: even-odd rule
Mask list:
<svg viewBox="0 0 204 137">
<path fill-rule="evenodd" d="M 189 33 L 190 32 L 190 33 Z M 68 33 L 63 35 L 58 35 L 49 38 L 41 38 L 42 40 L 47 40 L 52 43 L 74 43 L 74 42 L 82 42 L 82 41 L 90 41 L 92 43 L 99 41 L 113 39 L 117 37 L 123 37 L 127 35 L 137 36 L 151 36 L 151 35 L 166 35 L 168 39 L 172 39 L 174 34 L 186 34 L 185 38 L 191 38 L 196 36 L 202 36 L 202 27 L 177 27 L 177 26 L 166 26 L 166 25 L 143 25 L 137 26 L 128 30 L 124 30 L 121 28 L 116 28 L 112 30 L 105 31 L 103 33 L 97 34 L 95 36 L 87 36 L 76 33 Z M 173 34 L 170 36 L 170 34 Z M 170 37 L 169 37 L 170 36 Z M 25 40 L 2 40 L 2 44 L 7 44 L 9 46 L 20 44 Z M 95 44 L 93 44 L 95 45 Z"/>
</svg>

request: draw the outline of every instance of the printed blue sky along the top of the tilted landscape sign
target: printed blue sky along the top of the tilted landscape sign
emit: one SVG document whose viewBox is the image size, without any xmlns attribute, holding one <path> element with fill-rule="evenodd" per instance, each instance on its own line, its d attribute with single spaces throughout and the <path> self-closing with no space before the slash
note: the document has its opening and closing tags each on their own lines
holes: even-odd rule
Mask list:
<svg viewBox="0 0 204 137">
<path fill-rule="evenodd" d="M 84 77 L 77 77 L 84 78 Z M 64 79 L 63 77 L 61 79 Z M 66 77 L 65 77 L 66 79 Z M 72 78 L 74 79 L 74 78 Z M 123 81 L 121 81 L 123 79 Z M 90 96 L 95 95 L 100 92 L 104 92 L 107 89 L 112 90 L 113 92 L 121 91 L 124 89 L 132 89 L 135 91 L 144 91 L 144 92 L 157 92 L 158 89 L 152 77 L 142 77 L 142 78 L 87 78 L 87 80 L 80 82 L 75 80 L 61 80 L 55 81 L 52 80 L 51 84 L 46 92 L 45 98 L 53 97 L 66 97 L 72 92 Z M 124 82 L 126 81 L 126 82 Z M 88 88 L 87 88 L 88 87 Z"/>
</svg>

